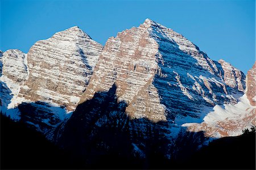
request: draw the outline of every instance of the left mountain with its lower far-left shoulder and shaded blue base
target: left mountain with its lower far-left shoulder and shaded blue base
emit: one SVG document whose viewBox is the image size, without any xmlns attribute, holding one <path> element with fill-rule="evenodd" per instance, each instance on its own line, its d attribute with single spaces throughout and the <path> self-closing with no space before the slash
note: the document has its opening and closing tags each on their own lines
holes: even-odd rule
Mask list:
<svg viewBox="0 0 256 170">
<path fill-rule="evenodd" d="M 2 112 L 52 138 L 51 132 L 75 110 L 102 48 L 80 28 L 71 27 L 36 42 L 27 55 L 6 51 L 1 80 L 7 96 L 3 105 L 9 110 Z"/>
</svg>

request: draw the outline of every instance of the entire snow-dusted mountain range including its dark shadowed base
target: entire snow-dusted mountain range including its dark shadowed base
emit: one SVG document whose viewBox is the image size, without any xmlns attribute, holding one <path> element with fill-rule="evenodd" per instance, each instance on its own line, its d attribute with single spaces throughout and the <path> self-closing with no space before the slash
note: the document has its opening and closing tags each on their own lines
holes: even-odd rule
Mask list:
<svg viewBox="0 0 256 170">
<path fill-rule="evenodd" d="M 71 27 L 0 59 L 2 113 L 85 162 L 169 159 L 255 125 L 255 65 L 246 77 L 150 19 L 104 47 Z"/>
</svg>

